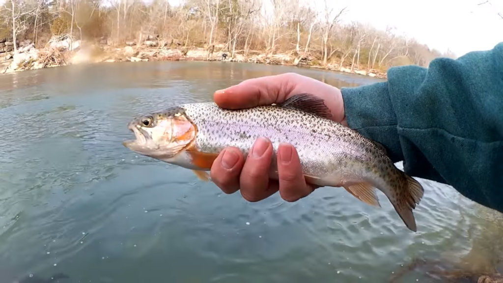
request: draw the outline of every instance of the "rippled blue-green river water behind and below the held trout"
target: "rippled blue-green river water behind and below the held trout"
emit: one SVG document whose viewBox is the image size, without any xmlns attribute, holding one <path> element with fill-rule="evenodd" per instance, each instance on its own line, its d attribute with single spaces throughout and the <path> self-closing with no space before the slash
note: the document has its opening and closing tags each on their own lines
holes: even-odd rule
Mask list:
<svg viewBox="0 0 503 283">
<path fill-rule="evenodd" d="M 385 282 L 414 258 L 458 258 L 472 247 L 484 257 L 491 247 L 473 244 L 484 231 L 496 235 L 484 242 L 501 241 L 499 214 L 435 182 L 421 180 L 412 233 L 380 192 L 382 208 L 339 188 L 252 203 L 121 144 L 138 113 L 284 72 L 337 87 L 381 81 L 219 61 L 1 76 L 0 282 L 55 273 L 68 282 Z"/>
</svg>

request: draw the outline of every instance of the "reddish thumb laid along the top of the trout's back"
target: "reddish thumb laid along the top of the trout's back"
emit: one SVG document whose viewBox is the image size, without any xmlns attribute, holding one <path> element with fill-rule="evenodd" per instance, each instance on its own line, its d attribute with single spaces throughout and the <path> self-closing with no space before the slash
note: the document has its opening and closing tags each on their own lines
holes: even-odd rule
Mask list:
<svg viewBox="0 0 503 283">
<path fill-rule="evenodd" d="M 245 80 L 213 95 L 215 103 L 227 109 L 250 108 L 283 102 L 294 88 L 294 73 Z"/>
</svg>

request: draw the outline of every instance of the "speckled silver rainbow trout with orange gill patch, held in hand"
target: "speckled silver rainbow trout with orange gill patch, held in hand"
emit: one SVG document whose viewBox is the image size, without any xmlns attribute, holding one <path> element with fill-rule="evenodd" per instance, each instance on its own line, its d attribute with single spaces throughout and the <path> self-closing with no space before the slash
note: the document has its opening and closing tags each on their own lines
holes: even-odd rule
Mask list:
<svg viewBox="0 0 503 283">
<path fill-rule="evenodd" d="M 127 124 L 135 139 L 124 140 L 129 150 L 193 170 L 211 181 L 208 171 L 226 147 L 246 156 L 255 140 L 271 140 L 269 177 L 278 180 L 277 149 L 295 147 L 307 183 L 343 187 L 357 199 L 381 207 L 376 189 L 384 193 L 405 226 L 417 232 L 413 209 L 423 186 L 395 167 L 381 144 L 332 120 L 324 101 L 308 93 L 283 103 L 246 109 L 224 109 L 214 102 L 170 105 L 133 117 Z"/>
</svg>

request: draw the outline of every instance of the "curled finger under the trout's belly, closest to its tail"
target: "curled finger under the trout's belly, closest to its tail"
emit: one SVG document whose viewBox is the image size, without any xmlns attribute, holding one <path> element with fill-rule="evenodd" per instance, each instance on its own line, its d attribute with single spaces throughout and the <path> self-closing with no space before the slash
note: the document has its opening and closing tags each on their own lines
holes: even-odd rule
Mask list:
<svg viewBox="0 0 503 283">
<path fill-rule="evenodd" d="M 297 201 L 313 191 L 306 184 L 297 150 L 290 144 L 278 147 L 278 178 L 280 195 L 286 201 Z"/>
</svg>

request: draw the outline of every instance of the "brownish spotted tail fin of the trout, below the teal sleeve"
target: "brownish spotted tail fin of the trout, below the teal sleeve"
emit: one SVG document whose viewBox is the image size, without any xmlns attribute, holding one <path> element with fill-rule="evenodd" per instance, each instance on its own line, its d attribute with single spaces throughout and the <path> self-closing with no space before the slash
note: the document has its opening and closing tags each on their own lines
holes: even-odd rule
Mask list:
<svg viewBox="0 0 503 283">
<path fill-rule="evenodd" d="M 414 178 L 402 172 L 403 178 L 400 182 L 395 182 L 393 191 L 390 192 L 390 201 L 393 204 L 396 212 L 400 216 L 405 226 L 413 232 L 417 232 L 414 214 L 412 209 L 416 204 L 419 204 L 423 198 L 423 186 Z"/>
</svg>

